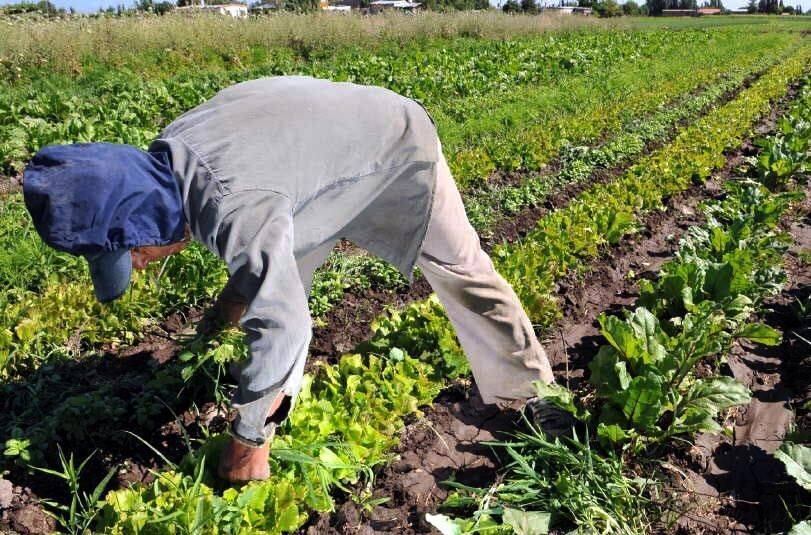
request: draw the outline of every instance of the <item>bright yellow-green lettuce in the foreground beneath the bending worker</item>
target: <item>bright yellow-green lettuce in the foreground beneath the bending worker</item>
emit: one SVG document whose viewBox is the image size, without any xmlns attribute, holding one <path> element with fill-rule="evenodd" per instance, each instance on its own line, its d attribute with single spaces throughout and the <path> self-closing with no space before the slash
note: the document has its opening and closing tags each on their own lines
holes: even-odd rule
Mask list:
<svg viewBox="0 0 811 535">
<path fill-rule="evenodd" d="M 418 321 L 426 310 L 434 311 L 433 318 Z M 431 338 L 432 329 L 435 337 L 452 337 L 436 301 L 413 305 L 374 329 L 381 344 L 376 349 L 345 355 L 337 365 L 319 365 L 305 377 L 296 408 L 274 439 L 270 480 L 215 491 L 215 467 L 205 459 L 218 458 L 227 436 L 213 436 L 152 484 L 108 494 L 98 529 L 121 534 L 275 534 L 301 525 L 305 506 L 331 510 L 330 490 L 349 491 L 345 485 L 373 477 L 371 467 L 387 459 L 403 418 L 418 413 L 439 392 L 442 380 L 436 370 L 455 365 L 443 364 L 443 359 L 447 356 L 453 363 L 460 358 L 455 340 L 443 341 L 441 351 L 423 352 L 423 357 L 430 355 L 430 364 L 391 345 L 404 340 L 405 333 L 416 335 L 417 329 L 424 329 L 434 343 L 438 338 Z M 221 336 L 225 338 L 190 348 L 184 366 L 196 366 L 191 377 L 209 365 L 225 366 L 244 355 L 240 339 Z M 223 352 L 228 345 L 232 347 Z M 385 351 L 379 351 L 384 346 Z M 204 376 L 211 377 L 211 372 Z"/>
</svg>

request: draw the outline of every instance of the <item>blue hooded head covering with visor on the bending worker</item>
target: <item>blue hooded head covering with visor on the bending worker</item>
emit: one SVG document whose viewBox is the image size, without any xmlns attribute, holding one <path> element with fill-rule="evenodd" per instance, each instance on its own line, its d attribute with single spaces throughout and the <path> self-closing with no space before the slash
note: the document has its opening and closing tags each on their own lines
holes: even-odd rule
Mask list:
<svg viewBox="0 0 811 535">
<path fill-rule="evenodd" d="M 23 174 L 25 205 L 42 239 L 83 255 L 100 301 L 129 285 L 129 250 L 184 237 L 177 181 L 165 153 L 83 143 L 40 150 Z"/>
</svg>

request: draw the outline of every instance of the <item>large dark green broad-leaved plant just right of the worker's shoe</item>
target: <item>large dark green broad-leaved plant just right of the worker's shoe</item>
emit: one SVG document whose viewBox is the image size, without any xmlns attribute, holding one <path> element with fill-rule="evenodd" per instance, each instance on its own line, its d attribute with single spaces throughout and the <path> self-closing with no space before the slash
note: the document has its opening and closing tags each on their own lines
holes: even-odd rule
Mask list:
<svg viewBox="0 0 811 535">
<path fill-rule="evenodd" d="M 749 401 L 746 387 L 728 377 L 696 378 L 695 365 L 717 355 L 728 334 L 713 310 L 684 316 L 669 336 L 647 309 L 623 321 L 600 317 L 608 345 L 589 365 L 589 381 L 603 402 L 598 436 L 606 443 L 646 442 L 699 431 L 718 431 L 720 411 Z"/>
</svg>

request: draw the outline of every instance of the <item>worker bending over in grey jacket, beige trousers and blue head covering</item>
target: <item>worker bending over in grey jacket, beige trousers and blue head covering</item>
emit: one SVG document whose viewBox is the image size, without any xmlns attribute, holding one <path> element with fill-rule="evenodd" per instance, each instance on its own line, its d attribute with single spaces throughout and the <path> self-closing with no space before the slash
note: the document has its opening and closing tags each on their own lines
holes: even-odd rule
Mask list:
<svg viewBox="0 0 811 535">
<path fill-rule="evenodd" d="M 228 265 L 219 300 L 245 332 L 238 416 L 220 460 L 230 481 L 268 477 L 268 449 L 301 387 L 313 272 L 346 238 L 407 276 L 419 266 L 447 311 L 485 403 L 533 395 L 552 370 L 512 288 L 465 215 L 436 129 L 382 88 L 306 77 L 227 88 L 171 123 L 147 152 L 42 149 L 23 191 L 49 245 L 83 255 L 96 297 L 181 250 L 186 232 Z M 566 418 L 536 402 L 538 425 Z"/>
</svg>

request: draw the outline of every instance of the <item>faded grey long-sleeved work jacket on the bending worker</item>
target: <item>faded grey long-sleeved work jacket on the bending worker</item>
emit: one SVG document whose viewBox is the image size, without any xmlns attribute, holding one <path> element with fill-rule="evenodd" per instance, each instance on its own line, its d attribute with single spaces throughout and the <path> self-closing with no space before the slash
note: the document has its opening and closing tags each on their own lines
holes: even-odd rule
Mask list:
<svg viewBox="0 0 811 535">
<path fill-rule="evenodd" d="M 410 276 L 430 218 L 436 130 L 386 89 L 289 76 L 221 91 L 149 150 L 169 153 L 192 234 L 248 304 L 234 431 L 262 442 L 271 402 L 301 383 L 312 326 L 302 259 L 347 238 Z"/>
</svg>

